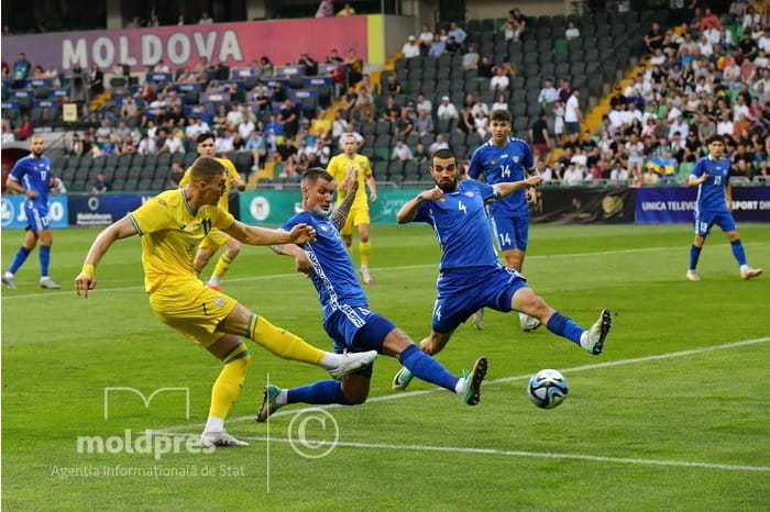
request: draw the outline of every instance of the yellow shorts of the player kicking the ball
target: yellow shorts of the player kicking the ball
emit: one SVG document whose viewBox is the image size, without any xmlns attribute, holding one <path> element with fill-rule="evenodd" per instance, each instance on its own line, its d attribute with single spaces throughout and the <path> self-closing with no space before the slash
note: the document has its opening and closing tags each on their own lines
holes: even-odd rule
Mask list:
<svg viewBox="0 0 770 512">
<path fill-rule="evenodd" d="M 150 296 L 150 305 L 161 322 L 208 348 L 224 335 L 217 326 L 238 301 L 197 279 L 168 279 Z"/>
</svg>

